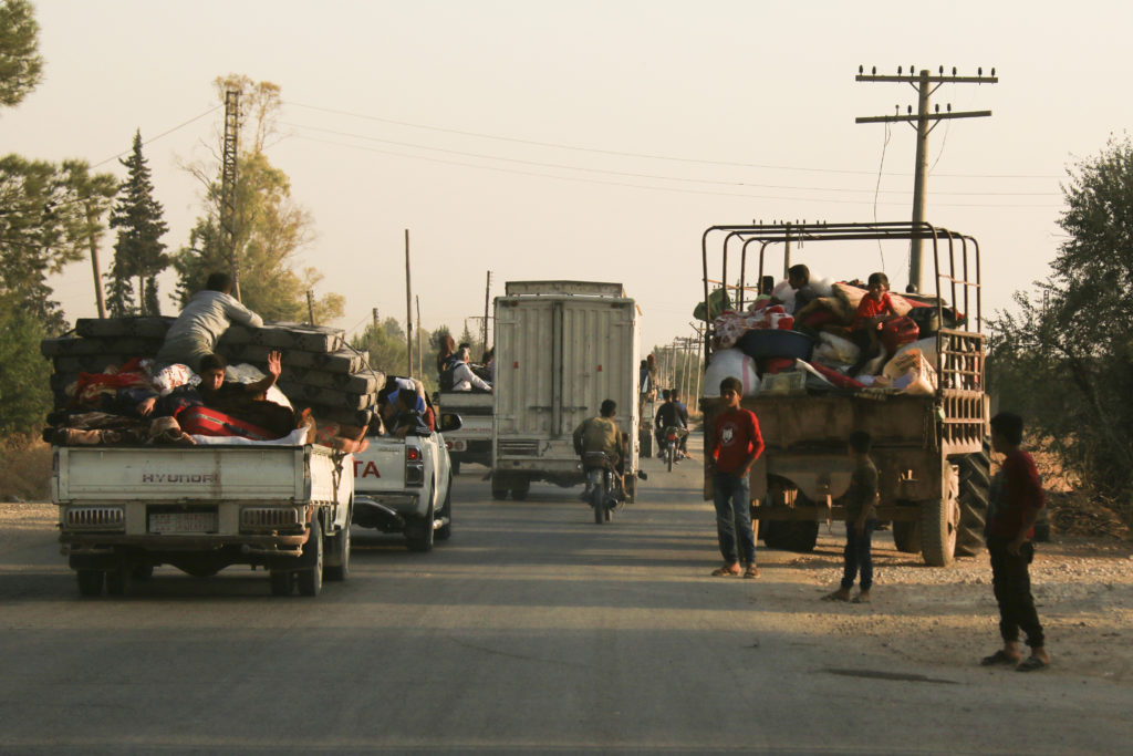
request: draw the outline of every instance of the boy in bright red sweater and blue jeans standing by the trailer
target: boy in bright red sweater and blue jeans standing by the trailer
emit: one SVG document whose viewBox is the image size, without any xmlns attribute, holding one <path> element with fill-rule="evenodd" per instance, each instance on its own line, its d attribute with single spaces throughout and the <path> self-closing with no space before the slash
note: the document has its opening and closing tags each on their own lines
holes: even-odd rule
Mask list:
<svg viewBox="0 0 1133 756">
<path fill-rule="evenodd" d="M 764 451 L 756 414 L 740 407 L 743 384 L 736 377 L 719 382 L 725 410 L 716 417 L 708 442 L 708 469 L 713 474 L 716 504 L 716 536 L 724 566 L 715 577 L 759 577 L 756 567 L 756 538 L 751 532 L 751 485 L 748 473 Z M 742 553 L 741 553 L 742 552 Z M 744 567 L 740 567 L 740 561 Z"/>
</svg>

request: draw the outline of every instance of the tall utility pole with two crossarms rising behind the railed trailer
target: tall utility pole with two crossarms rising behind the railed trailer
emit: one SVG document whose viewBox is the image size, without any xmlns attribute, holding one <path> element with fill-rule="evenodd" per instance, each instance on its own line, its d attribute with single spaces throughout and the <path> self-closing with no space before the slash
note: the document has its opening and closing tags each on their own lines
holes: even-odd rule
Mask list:
<svg viewBox="0 0 1133 756">
<path fill-rule="evenodd" d="M 983 69 L 977 68 L 976 76 L 957 76 L 956 69 L 952 69 L 952 76 L 945 76 L 944 66 L 940 66 L 939 75 L 931 76 L 928 69 L 922 69 L 920 74 L 913 74 L 913 66 L 909 67 L 909 74 L 902 74 L 901 66 L 897 66 L 896 76 L 878 75 L 877 67 L 867 74 L 863 66 L 858 67 L 855 82 L 898 82 L 910 84 L 917 90 L 917 114 L 912 114 L 912 105 L 908 105 L 905 114 L 901 114 L 901 105 L 896 105 L 896 113 L 893 116 L 868 116 L 854 119 L 855 124 L 893 124 L 905 122 L 917 128 L 917 170 L 913 178 L 913 223 L 925 222 L 925 179 L 928 173 L 928 133 L 936 128 L 936 121 L 949 118 L 986 118 L 991 114 L 990 110 L 971 110 L 966 112 L 952 112 L 949 103 L 946 112 L 940 112 L 940 105 L 935 112 L 929 112 L 929 95 L 939 88 L 942 84 L 998 84 L 999 78 L 991 69 L 990 76 L 983 76 Z M 934 121 L 929 126 L 929 121 Z M 913 239 L 909 255 L 909 286 L 913 291 L 921 289 L 921 241 Z"/>
</svg>

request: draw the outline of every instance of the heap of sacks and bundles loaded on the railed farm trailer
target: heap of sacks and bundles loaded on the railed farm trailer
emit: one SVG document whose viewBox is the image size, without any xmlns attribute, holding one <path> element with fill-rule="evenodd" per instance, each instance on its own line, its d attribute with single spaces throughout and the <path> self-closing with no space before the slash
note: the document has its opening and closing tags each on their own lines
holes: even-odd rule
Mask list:
<svg viewBox="0 0 1133 756">
<path fill-rule="evenodd" d="M 862 363 L 850 328 L 866 287 L 815 279 L 809 286 L 815 296 L 798 309 L 794 290 L 783 281 L 744 311 L 725 309 L 714 318 L 706 396 L 715 396 L 730 375 L 740 379 L 744 396 L 936 391 L 942 324 L 935 304 L 891 292 L 897 317 L 877 333 L 884 349 Z M 963 317 L 944 308 L 944 328 L 954 328 Z"/>
</svg>

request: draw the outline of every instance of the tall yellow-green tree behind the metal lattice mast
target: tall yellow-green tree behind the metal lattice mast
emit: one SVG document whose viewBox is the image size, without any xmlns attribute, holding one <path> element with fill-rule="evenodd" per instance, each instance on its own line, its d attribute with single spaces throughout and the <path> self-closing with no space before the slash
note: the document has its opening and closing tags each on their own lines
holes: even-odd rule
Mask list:
<svg viewBox="0 0 1133 756">
<path fill-rule="evenodd" d="M 288 176 L 271 164 L 266 150 L 276 136 L 279 87 L 254 84 L 246 76 L 214 82 L 223 102 L 230 88 L 240 91 L 239 154 L 236 182 L 236 262 L 245 305 L 270 321 L 307 321 L 307 292 L 323 275 L 315 267 L 295 271 L 292 262 L 312 241 L 310 215 L 291 198 Z M 218 161 L 219 162 L 219 161 Z M 205 186 L 205 215 L 189 235 L 189 245 L 173 260 L 178 299 L 184 304 L 202 287 L 208 273 L 230 270 L 221 248 L 221 181 L 218 163 L 190 165 Z M 344 299 L 338 294 L 313 297 L 315 322 L 342 316 Z"/>
</svg>

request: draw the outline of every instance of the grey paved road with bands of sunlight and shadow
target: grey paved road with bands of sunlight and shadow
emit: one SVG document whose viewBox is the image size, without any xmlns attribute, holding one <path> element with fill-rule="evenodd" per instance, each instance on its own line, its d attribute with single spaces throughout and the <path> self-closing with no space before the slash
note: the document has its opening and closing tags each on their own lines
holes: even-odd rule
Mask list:
<svg viewBox="0 0 1133 756">
<path fill-rule="evenodd" d="M 0 554 L 0 751 L 1127 748 L 1127 687 L 863 655 L 808 628 L 813 585 L 778 552 L 758 581 L 707 577 L 699 468 L 645 466 L 608 526 L 578 489 L 493 502 L 468 466 L 451 542 L 356 530 L 350 580 L 316 600 L 236 568 L 80 600 L 49 527 L 22 532 Z"/>
</svg>

